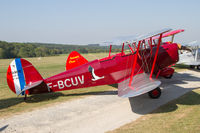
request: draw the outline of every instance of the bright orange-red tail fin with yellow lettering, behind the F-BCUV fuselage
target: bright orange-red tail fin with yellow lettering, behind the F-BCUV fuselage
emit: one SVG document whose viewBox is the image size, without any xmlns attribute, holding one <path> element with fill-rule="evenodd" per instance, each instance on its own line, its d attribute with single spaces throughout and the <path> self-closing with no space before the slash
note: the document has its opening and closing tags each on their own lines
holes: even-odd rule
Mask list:
<svg viewBox="0 0 200 133">
<path fill-rule="evenodd" d="M 87 62 L 88 61 L 82 55 L 80 55 L 78 52 L 72 51 L 67 58 L 66 70 L 83 65 Z"/>
</svg>

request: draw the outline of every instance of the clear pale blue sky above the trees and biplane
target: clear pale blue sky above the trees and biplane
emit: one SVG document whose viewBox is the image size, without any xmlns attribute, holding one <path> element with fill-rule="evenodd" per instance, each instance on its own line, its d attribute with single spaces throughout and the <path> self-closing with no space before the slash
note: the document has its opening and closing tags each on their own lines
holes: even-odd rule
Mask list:
<svg viewBox="0 0 200 133">
<path fill-rule="evenodd" d="M 163 28 L 200 42 L 199 0 L 0 0 L 0 40 L 101 43 Z"/>
</svg>

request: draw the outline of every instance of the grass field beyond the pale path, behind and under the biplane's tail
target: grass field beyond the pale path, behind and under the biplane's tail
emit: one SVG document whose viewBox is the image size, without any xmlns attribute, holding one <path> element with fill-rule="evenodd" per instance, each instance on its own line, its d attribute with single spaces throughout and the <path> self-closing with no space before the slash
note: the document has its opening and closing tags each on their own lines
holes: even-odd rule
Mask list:
<svg viewBox="0 0 200 133">
<path fill-rule="evenodd" d="M 83 54 L 83 56 L 91 61 L 108 56 L 108 53 Z M 65 71 L 65 63 L 68 55 L 26 58 L 40 72 L 43 78 L 58 74 Z M 87 95 L 95 95 L 103 91 L 114 90 L 112 86 L 98 86 L 70 91 L 62 91 L 57 93 L 39 94 L 29 96 L 24 102 L 23 97 L 17 97 L 7 86 L 6 72 L 12 59 L 0 60 L 0 117 L 7 117 L 16 113 L 30 111 L 38 107 L 48 106 L 58 102 L 81 98 Z"/>
</svg>

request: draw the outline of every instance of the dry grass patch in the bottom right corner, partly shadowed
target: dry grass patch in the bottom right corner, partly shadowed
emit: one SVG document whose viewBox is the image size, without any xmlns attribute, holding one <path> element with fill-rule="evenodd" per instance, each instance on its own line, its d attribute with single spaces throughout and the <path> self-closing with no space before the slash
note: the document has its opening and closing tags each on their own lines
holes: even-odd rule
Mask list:
<svg viewBox="0 0 200 133">
<path fill-rule="evenodd" d="M 199 133 L 200 89 L 108 133 Z"/>
</svg>

